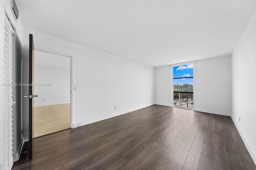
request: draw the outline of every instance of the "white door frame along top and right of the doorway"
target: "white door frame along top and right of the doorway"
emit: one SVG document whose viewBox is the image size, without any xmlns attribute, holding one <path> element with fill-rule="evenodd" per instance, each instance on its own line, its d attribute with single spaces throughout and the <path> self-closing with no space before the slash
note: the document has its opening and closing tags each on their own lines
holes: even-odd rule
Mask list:
<svg viewBox="0 0 256 170">
<path fill-rule="evenodd" d="M 70 58 L 70 127 L 74 128 L 74 55 L 40 47 L 35 50 Z"/>
</svg>

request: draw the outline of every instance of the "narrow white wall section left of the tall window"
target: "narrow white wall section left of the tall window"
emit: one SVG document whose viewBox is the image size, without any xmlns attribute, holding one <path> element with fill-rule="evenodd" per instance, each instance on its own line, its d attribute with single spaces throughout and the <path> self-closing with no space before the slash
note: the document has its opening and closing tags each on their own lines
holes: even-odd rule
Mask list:
<svg viewBox="0 0 256 170">
<path fill-rule="evenodd" d="M 172 106 L 171 102 L 171 67 L 155 68 L 155 103 L 157 105 Z"/>
</svg>

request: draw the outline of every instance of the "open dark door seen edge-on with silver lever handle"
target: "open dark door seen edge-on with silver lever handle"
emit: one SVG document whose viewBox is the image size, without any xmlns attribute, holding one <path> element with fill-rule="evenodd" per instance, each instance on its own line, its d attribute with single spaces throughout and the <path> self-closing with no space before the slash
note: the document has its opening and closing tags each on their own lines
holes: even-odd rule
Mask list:
<svg viewBox="0 0 256 170">
<path fill-rule="evenodd" d="M 29 99 L 29 159 L 32 158 L 33 153 L 33 110 L 34 110 L 34 97 L 38 97 L 34 94 L 34 42 L 33 35 L 29 34 L 29 94 L 27 97 Z"/>
</svg>

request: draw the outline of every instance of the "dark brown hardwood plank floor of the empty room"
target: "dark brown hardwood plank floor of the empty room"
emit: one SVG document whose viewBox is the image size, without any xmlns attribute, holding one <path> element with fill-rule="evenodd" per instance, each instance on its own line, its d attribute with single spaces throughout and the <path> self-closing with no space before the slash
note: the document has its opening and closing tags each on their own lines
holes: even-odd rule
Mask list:
<svg viewBox="0 0 256 170">
<path fill-rule="evenodd" d="M 152 105 L 34 139 L 13 169 L 256 170 L 230 117 Z"/>
</svg>

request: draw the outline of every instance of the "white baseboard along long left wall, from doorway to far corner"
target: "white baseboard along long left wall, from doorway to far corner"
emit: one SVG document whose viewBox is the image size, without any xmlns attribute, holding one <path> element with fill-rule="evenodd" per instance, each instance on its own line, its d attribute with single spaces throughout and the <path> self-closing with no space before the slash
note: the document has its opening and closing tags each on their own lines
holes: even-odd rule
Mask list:
<svg viewBox="0 0 256 170">
<path fill-rule="evenodd" d="M 103 121 L 105 119 L 109 119 L 109 118 L 112 118 L 112 117 L 116 117 L 116 116 L 120 116 L 120 115 L 124 115 L 126 113 L 130 113 L 132 111 L 136 111 L 138 109 L 142 109 L 142 108 L 145 108 L 145 107 L 149 107 L 151 105 L 154 105 L 154 104 L 150 104 L 150 105 L 140 105 L 138 107 L 133 107 L 131 109 L 126 109 L 126 110 L 123 110 L 123 111 L 118 111 L 118 112 L 112 112 L 112 113 L 108 113 L 106 114 L 105 117 L 103 117 L 102 119 L 95 119 L 95 120 L 90 120 L 90 121 L 83 121 L 83 122 L 78 122 L 78 123 L 74 123 L 72 128 L 76 128 L 76 127 L 81 127 L 81 126 L 84 126 L 84 125 L 88 125 L 90 123 L 95 123 L 95 122 L 98 122 L 98 121 Z"/>
</svg>

